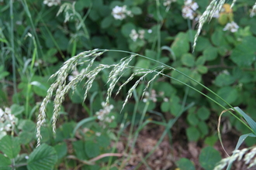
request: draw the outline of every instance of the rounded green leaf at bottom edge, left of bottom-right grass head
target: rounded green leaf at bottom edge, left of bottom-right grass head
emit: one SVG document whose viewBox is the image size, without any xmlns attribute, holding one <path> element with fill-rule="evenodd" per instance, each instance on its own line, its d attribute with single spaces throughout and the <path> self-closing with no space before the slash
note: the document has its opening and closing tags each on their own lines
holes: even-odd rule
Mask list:
<svg viewBox="0 0 256 170">
<path fill-rule="evenodd" d="M 203 148 L 199 155 L 199 163 L 205 170 L 213 170 L 217 162 L 220 162 L 221 155 L 211 146 Z"/>
</svg>

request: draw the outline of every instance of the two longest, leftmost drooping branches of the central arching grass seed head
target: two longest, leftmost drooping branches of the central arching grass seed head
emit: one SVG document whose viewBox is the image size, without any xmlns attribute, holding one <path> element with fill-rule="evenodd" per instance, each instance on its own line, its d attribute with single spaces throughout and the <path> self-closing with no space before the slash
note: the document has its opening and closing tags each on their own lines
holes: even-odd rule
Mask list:
<svg viewBox="0 0 256 170">
<path fill-rule="evenodd" d="M 53 120 L 52 126 L 53 126 L 53 131 L 55 132 L 57 116 L 59 111 L 61 110 L 61 104 L 64 101 L 65 94 L 68 92 L 68 90 L 71 89 L 71 87 L 76 87 L 78 82 L 85 78 L 84 76 L 81 76 L 81 74 L 79 74 L 78 77 L 75 77 L 74 80 L 68 83 L 66 86 L 66 80 L 67 80 L 68 74 L 71 73 L 71 71 L 73 71 L 78 66 L 80 59 L 87 59 L 88 57 L 92 56 L 93 58 L 88 60 L 90 62 L 88 64 L 88 67 L 85 69 L 85 72 L 83 73 L 88 72 L 92 67 L 92 63 L 94 62 L 94 59 L 105 52 L 106 50 L 99 52 L 98 49 L 94 49 L 92 51 L 79 53 L 77 56 L 74 56 L 71 59 L 68 59 L 64 63 L 64 65 L 61 66 L 60 70 L 58 70 L 56 73 L 50 76 L 50 78 L 57 77 L 57 79 L 47 90 L 47 97 L 43 99 L 43 102 L 40 105 L 40 110 L 39 110 L 40 113 L 38 115 L 38 119 L 36 122 L 37 147 L 40 145 L 40 139 L 42 138 L 40 134 L 40 128 L 41 126 L 43 126 L 43 123 L 45 122 L 47 104 L 50 102 L 51 98 L 53 97 L 54 91 L 56 91 L 56 96 L 54 98 L 54 114 L 52 117 L 52 120 Z"/>
</svg>

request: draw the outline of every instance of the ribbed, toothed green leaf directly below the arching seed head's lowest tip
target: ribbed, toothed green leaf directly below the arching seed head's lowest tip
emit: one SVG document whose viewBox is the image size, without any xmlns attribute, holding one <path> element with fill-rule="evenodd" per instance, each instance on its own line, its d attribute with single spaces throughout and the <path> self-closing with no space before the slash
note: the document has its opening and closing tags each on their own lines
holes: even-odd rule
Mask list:
<svg viewBox="0 0 256 170">
<path fill-rule="evenodd" d="M 29 155 L 27 168 L 29 170 L 52 170 L 56 162 L 57 154 L 54 147 L 42 144 Z"/>
</svg>

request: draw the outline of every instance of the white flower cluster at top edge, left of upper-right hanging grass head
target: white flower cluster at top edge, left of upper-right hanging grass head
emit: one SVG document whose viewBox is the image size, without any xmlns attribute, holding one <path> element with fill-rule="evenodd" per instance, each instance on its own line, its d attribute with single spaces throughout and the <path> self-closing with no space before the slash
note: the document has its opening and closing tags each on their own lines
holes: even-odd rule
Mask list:
<svg viewBox="0 0 256 170">
<path fill-rule="evenodd" d="M 192 0 L 186 0 L 182 8 L 182 16 L 184 19 L 195 19 L 196 9 L 199 8 L 199 5 Z"/>
</svg>

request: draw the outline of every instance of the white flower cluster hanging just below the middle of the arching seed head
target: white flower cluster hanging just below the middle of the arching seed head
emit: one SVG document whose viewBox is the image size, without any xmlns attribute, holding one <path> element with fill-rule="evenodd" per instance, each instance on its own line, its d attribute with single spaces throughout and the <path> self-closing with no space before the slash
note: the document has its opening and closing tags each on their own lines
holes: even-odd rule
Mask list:
<svg viewBox="0 0 256 170">
<path fill-rule="evenodd" d="M 97 118 L 99 119 L 99 121 L 103 122 L 103 126 L 105 126 L 104 124 L 105 122 L 111 123 L 112 120 L 115 119 L 114 116 L 109 117 L 109 113 L 114 108 L 114 106 L 112 104 L 107 105 L 105 102 L 102 102 L 102 107 L 103 109 L 97 111 L 95 114 L 97 115 Z"/>
</svg>

